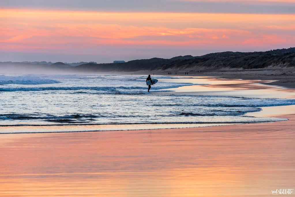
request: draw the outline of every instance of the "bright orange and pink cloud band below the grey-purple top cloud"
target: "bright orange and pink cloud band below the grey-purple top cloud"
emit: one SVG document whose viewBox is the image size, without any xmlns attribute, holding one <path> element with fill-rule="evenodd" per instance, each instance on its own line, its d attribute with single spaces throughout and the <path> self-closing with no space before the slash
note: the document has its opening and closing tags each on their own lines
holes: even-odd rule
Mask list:
<svg viewBox="0 0 295 197">
<path fill-rule="evenodd" d="M 256 47 L 295 44 L 292 14 L 108 13 L 3 9 L 0 50 L 102 46 Z M 275 34 L 272 30 L 276 30 Z M 293 41 L 292 41 L 293 40 Z"/>
</svg>

